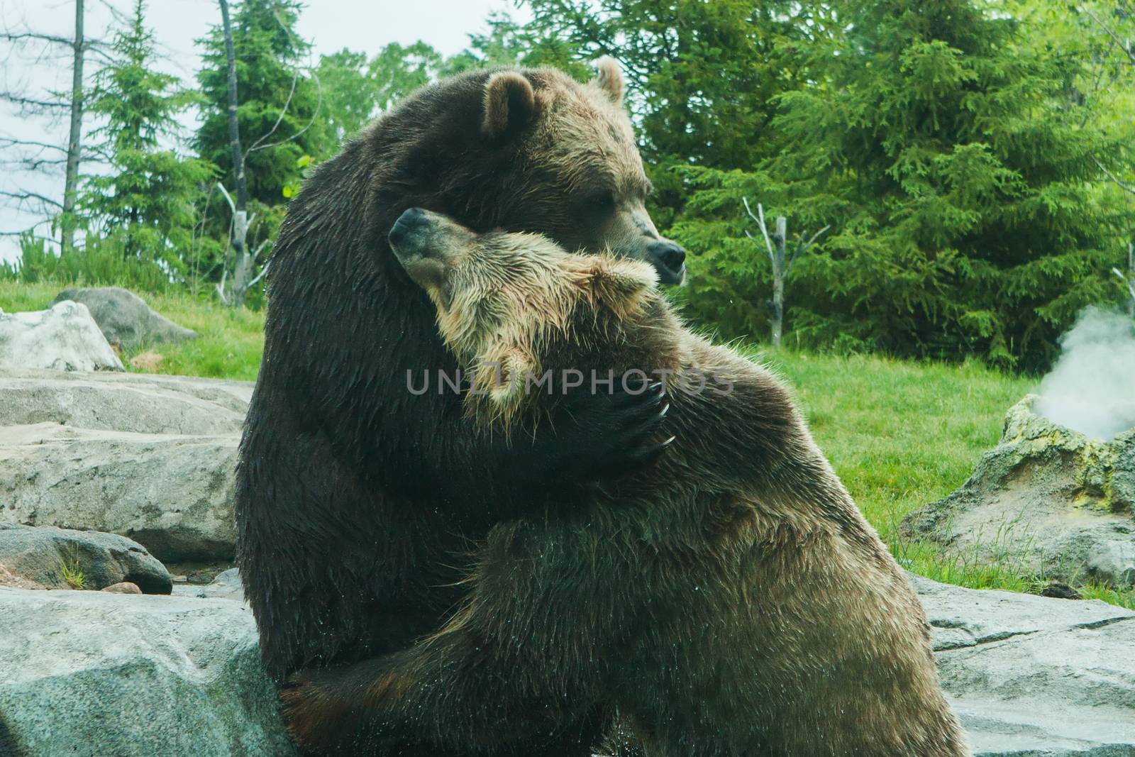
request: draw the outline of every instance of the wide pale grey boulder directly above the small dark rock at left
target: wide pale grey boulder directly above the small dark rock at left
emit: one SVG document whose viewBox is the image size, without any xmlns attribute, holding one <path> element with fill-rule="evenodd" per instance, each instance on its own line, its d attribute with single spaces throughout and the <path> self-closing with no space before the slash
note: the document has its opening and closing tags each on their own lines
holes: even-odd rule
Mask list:
<svg viewBox="0 0 1135 757">
<path fill-rule="evenodd" d="M 0 427 L 0 522 L 120 533 L 163 562 L 232 561 L 238 440 Z"/>
</svg>

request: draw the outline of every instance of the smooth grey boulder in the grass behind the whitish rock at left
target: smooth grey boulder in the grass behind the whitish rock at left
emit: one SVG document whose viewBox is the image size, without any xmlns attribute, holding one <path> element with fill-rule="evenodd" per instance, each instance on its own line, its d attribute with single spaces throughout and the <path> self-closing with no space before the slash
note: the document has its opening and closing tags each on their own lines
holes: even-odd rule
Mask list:
<svg viewBox="0 0 1135 757">
<path fill-rule="evenodd" d="M 197 338 L 197 333 L 183 328 L 165 316 L 159 316 L 145 301 L 117 286 L 90 289 L 64 289 L 51 304 L 70 300 L 81 302 L 102 329 L 107 342 L 132 350 L 143 344 L 185 342 Z"/>
</svg>

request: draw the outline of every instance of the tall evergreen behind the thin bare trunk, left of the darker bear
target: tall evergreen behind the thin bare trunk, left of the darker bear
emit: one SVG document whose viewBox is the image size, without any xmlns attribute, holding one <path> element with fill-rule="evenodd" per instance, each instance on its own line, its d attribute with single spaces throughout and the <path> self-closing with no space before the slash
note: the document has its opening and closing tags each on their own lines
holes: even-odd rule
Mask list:
<svg viewBox="0 0 1135 757">
<path fill-rule="evenodd" d="M 244 169 L 249 196 L 264 205 L 284 202 L 284 187 L 300 179 L 301 158 L 326 158 L 336 146 L 326 118 L 320 117 L 320 87 L 300 70 L 310 45 L 295 33 L 299 12 L 295 0 L 244 0 L 233 15 Z M 196 148 L 220 167 L 230 185 L 227 61 L 219 25 L 199 43 L 204 48 L 204 65 L 197 73 L 204 101 Z"/>
</svg>

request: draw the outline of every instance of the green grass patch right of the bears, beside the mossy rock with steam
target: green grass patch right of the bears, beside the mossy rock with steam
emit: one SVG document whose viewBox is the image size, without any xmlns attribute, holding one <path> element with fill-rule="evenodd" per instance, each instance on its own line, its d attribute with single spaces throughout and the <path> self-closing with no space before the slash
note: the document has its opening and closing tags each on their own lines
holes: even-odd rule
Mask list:
<svg viewBox="0 0 1135 757">
<path fill-rule="evenodd" d="M 794 389 L 817 444 L 867 520 L 905 567 L 947 583 L 1025 591 L 1019 565 L 944 555 L 899 533 L 911 510 L 950 494 L 1001 436 L 1006 410 L 1035 388 L 977 362 L 961 365 L 877 355 L 764 351 Z"/>
</svg>

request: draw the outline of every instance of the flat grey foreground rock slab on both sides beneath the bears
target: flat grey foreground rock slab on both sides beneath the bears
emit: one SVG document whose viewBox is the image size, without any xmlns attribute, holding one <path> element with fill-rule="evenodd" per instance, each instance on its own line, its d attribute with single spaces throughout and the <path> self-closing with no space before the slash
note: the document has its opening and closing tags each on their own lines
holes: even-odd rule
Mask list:
<svg viewBox="0 0 1135 757">
<path fill-rule="evenodd" d="M 980 757 L 1135 756 L 1135 613 L 913 577 Z M 0 589 L 0 755 L 294 754 L 235 572 L 175 596 Z"/>
</svg>

